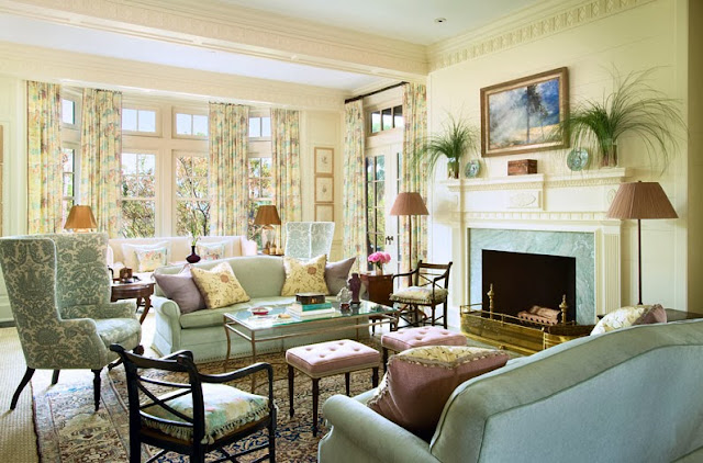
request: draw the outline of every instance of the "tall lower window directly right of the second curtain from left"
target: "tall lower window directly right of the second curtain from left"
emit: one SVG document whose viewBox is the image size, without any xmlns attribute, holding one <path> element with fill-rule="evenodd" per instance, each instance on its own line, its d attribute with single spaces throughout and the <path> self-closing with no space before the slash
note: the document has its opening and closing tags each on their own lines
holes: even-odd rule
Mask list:
<svg viewBox="0 0 703 463">
<path fill-rule="evenodd" d="M 122 153 L 122 228 L 125 238 L 156 234 L 156 155 Z"/>
</svg>

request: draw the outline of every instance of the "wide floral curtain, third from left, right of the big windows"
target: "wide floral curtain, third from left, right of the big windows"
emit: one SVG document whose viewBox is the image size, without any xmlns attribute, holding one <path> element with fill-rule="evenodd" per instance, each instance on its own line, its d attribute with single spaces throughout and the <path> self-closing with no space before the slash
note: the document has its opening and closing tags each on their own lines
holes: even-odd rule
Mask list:
<svg viewBox="0 0 703 463">
<path fill-rule="evenodd" d="M 210 103 L 209 192 L 212 235 L 246 235 L 248 135 L 248 106 Z"/>
</svg>

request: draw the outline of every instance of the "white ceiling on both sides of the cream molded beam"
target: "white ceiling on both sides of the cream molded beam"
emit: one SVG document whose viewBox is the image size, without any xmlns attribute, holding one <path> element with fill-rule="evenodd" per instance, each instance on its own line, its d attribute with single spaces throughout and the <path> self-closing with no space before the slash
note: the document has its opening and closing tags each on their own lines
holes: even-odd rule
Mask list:
<svg viewBox="0 0 703 463">
<path fill-rule="evenodd" d="M 327 26 L 420 45 L 465 33 L 545 0 L 219 0 Z M 445 18 L 443 24 L 435 18 Z M 388 78 L 215 50 L 77 24 L 0 13 L 0 42 L 131 59 L 353 93 L 388 84 Z"/>
</svg>

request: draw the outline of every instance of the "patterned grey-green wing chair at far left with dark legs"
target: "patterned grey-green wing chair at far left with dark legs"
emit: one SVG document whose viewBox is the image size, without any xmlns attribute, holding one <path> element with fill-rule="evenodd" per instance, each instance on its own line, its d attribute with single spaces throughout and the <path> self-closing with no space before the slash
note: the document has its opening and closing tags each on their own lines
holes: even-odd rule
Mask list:
<svg viewBox="0 0 703 463">
<path fill-rule="evenodd" d="M 14 315 L 26 372 L 12 396 L 36 369 L 90 369 L 96 410 L 100 372 L 118 358 L 110 345 L 140 347 L 142 327 L 133 302 L 110 303 L 103 234 L 34 235 L 0 239 L 0 263 Z"/>
</svg>

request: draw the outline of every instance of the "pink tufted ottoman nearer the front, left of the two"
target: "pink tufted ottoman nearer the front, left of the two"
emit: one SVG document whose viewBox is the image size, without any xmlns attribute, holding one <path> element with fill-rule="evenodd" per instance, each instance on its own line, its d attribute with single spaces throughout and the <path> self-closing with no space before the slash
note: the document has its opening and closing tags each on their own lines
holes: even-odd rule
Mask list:
<svg viewBox="0 0 703 463">
<path fill-rule="evenodd" d="M 371 384 L 378 386 L 378 368 L 381 355 L 376 349 L 349 339 L 301 346 L 286 351 L 288 362 L 288 400 L 290 416 L 293 416 L 293 377 L 295 370 L 312 379 L 312 434 L 317 436 L 317 399 L 320 379 L 344 373 L 347 395 L 349 395 L 349 373 L 373 369 Z"/>
</svg>

